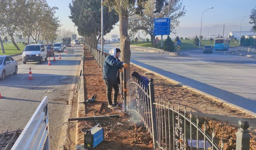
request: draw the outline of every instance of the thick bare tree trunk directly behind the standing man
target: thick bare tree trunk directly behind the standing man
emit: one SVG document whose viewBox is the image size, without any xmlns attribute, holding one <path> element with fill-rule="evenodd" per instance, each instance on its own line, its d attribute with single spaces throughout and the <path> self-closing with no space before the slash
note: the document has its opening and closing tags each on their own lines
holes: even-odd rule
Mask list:
<svg viewBox="0 0 256 150">
<path fill-rule="evenodd" d="M 124 11 L 123 11 L 124 12 Z M 128 16 L 119 14 L 120 49 L 122 62 L 130 66 L 130 38 L 128 36 Z M 126 70 L 126 79 L 130 78 L 130 67 Z"/>
</svg>

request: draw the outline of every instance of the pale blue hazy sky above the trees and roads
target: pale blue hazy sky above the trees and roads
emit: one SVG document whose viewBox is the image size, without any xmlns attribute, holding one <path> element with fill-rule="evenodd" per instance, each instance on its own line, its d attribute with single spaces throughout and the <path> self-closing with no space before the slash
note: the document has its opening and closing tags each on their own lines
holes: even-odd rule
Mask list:
<svg viewBox="0 0 256 150">
<path fill-rule="evenodd" d="M 59 9 L 56 10 L 56 16 L 59 16 L 60 24 L 62 28 L 76 32 L 77 27 L 74 28 L 74 23 L 68 18 L 70 16 L 70 9 L 68 8 L 71 0 L 47 0 L 49 6 L 56 6 Z M 225 26 L 239 26 L 241 19 L 244 16 L 250 15 L 251 10 L 256 8 L 256 0 L 183 0 L 182 4 L 185 6 L 185 16 L 179 18 L 179 32 L 177 34 L 186 34 L 182 32 L 182 28 L 195 27 L 200 29 L 202 12 L 208 8 L 203 14 L 202 28 L 213 27 L 217 25 Z M 248 30 L 250 18 L 246 17 L 242 21 L 242 30 Z M 226 29 L 226 30 L 232 30 Z M 184 30 L 184 32 L 186 32 Z M 198 32 L 198 31 L 196 31 Z M 111 34 L 119 34 L 119 27 L 115 26 L 114 29 L 104 36 L 104 38 L 110 39 Z M 206 33 L 204 33 L 206 34 Z M 140 34 L 141 37 L 145 37 Z M 174 36 L 174 35 L 172 35 Z M 190 36 L 190 35 L 188 35 Z M 149 37 L 149 36 L 147 36 Z"/>
</svg>

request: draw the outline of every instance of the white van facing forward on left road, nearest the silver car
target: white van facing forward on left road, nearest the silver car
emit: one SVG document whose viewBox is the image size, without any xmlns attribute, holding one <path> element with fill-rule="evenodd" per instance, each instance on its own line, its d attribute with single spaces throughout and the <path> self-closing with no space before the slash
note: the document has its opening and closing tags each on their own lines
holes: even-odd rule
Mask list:
<svg viewBox="0 0 256 150">
<path fill-rule="evenodd" d="M 26 45 L 22 50 L 22 62 L 40 62 L 42 64 L 43 59 L 47 60 L 47 49 L 45 44 L 30 44 Z"/>
</svg>

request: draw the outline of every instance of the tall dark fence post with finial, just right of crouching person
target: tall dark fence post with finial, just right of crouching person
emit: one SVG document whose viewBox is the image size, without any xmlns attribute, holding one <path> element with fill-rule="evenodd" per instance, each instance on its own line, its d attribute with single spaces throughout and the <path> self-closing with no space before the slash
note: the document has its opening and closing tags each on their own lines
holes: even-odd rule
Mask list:
<svg viewBox="0 0 256 150">
<path fill-rule="evenodd" d="M 154 149 L 158 148 L 158 145 L 156 143 L 157 141 L 157 134 L 156 134 L 156 108 L 153 104 L 155 102 L 155 93 L 154 93 L 154 83 L 153 78 L 150 78 L 149 86 L 149 95 L 150 95 L 150 110 L 151 110 L 151 123 L 152 123 L 152 138 L 153 138 L 153 144 Z"/>
</svg>

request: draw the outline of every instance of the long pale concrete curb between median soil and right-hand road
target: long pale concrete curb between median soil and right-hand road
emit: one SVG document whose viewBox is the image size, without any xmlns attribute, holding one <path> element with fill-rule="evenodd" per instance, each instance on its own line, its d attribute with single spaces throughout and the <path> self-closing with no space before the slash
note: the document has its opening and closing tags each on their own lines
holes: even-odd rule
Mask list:
<svg viewBox="0 0 256 150">
<path fill-rule="evenodd" d="M 182 87 L 184 87 L 184 88 L 187 88 L 187 89 L 189 89 L 189 90 L 192 90 L 192 91 L 194 91 L 194 92 L 197 92 L 198 94 L 202 94 L 202 95 L 204 95 L 204 96 L 206 96 L 206 97 L 208 97 L 208 98 L 212 98 L 213 100 L 215 100 L 215 101 L 217 101 L 217 102 L 220 102 L 220 103 L 222 103 L 222 104 L 225 104 L 225 105 L 227 105 L 227 106 L 229 106 L 229 107 L 231 107 L 231 108 L 240 110 L 240 111 L 242 111 L 242 112 L 244 112 L 244 113 L 246 113 L 246 114 L 248 114 L 248 115 L 250 115 L 250 116 L 256 118 L 256 113 L 254 113 L 254 112 L 252 112 L 252 111 L 250 111 L 250 110 L 246 110 L 246 109 L 244 109 L 244 108 L 242 108 L 242 107 L 240 107 L 240 106 L 236 106 L 235 104 L 232 104 L 232 103 L 230 103 L 230 102 L 227 102 L 226 100 L 222 100 L 222 99 L 220 99 L 220 98 L 217 98 L 216 96 L 212 96 L 212 95 L 210 95 L 210 94 L 207 94 L 207 93 L 205 93 L 205 92 L 202 92 L 202 91 L 197 90 L 197 89 L 195 89 L 195 88 L 192 88 L 192 87 L 190 87 L 190 86 L 184 85 L 184 84 L 182 84 L 182 83 L 180 83 L 180 82 L 178 82 L 178 81 L 176 81 L 176 80 L 173 80 L 173 79 L 171 79 L 171 78 L 168 78 L 168 77 L 166 77 L 166 76 L 163 76 L 163 75 L 161 75 L 161 74 L 158 74 L 157 72 L 154 72 L 154 71 L 152 71 L 152 70 L 148 70 L 148 69 L 146 69 L 146 68 L 144 68 L 144 67 L 142 67 L 142 66 L 138 66 L 137 64 L 134 64 L 134 63 L 132 63 L 132 62 L 130 62 L 130 64 L 133 64 L 134 66 L 136 66 L 136 67 L 138 67 L 138 68 L 140 68 L 140 69 L 143 69 L 143 70 L 146 70 L 147 72 L 150 72 L 150 73 L 152 73 L 152 74 L 156 74 L 156 75 L 158 75 L 158 76 L 161 76 L 162 78 L 164 78 L 164 79 L 166 79 L 166 80 L 168 80 L 168 81 L 170 81 L 170 82 L 172 82 L 172 83 L 174 83 L 174 84 L 177 84 L 177 85 L 179 85 L 179 86 L 182 86 Z"/>
</svg>

